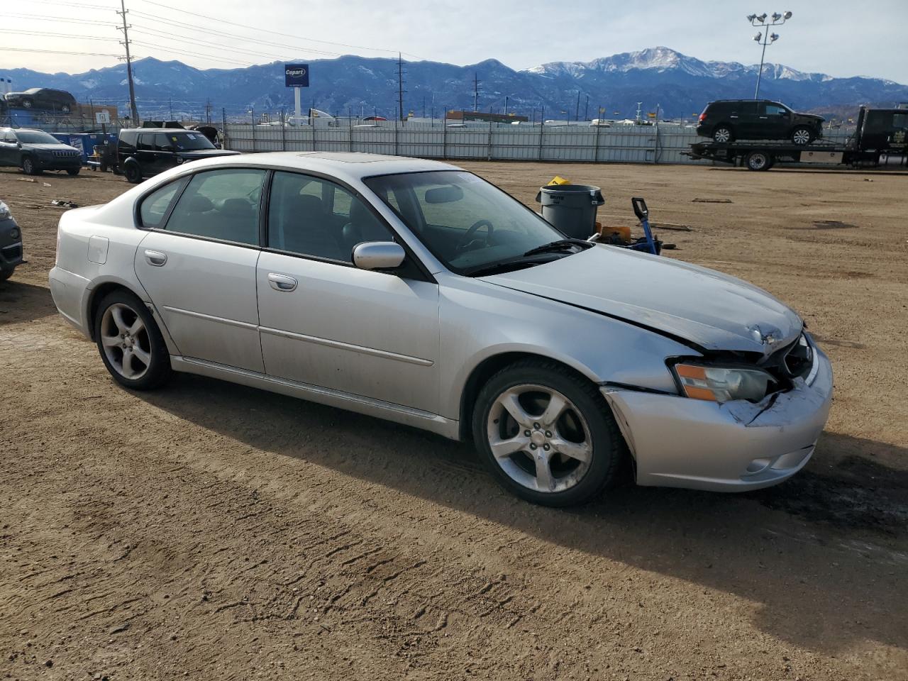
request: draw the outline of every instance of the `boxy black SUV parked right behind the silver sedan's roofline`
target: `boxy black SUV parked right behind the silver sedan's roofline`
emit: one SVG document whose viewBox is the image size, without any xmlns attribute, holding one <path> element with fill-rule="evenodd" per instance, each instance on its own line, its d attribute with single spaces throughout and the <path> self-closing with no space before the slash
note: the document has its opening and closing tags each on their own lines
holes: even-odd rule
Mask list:
<svg viewBox="0 0 908 681">
<path fill-rule="evenodd" d="M 205 135 L 182 128 L 134 128 L 121 130 L 116 143 L 117 165 L 135 184 L 174 165 L 212 156 L 239 152 L 218 149 Z"/>
</svg>

